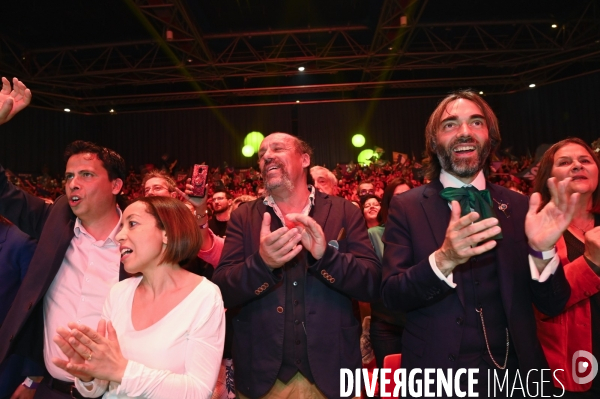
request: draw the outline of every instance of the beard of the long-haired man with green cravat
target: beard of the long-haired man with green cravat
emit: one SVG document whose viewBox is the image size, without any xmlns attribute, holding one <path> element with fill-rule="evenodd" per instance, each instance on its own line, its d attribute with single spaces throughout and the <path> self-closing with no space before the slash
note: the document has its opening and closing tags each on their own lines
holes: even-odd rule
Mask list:
<svg viewBox="0 0 600 399">
<path fill-rule="evenodd" d="M 453 148 L 459 144 L 469 144 L 475 147 L 475 156 L 470 158 L 455 157 Z M 472 137 L 459 137 L 452 140 L 446 147 L 438 145 L 435 149 L 442 169 L 458 177 L 475 176 L 483 169 L 492 149 L 492 143 L 487 139 L 483 145 Z"/>
</svg>

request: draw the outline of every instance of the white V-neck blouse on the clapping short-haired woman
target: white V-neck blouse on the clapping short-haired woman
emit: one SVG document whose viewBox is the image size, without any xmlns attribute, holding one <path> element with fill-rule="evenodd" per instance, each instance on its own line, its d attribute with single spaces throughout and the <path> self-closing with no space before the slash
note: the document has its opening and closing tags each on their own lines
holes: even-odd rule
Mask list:
<svg viewBox="0 0 600 399">
<path fill-rule="evenodd" d="M 94 380 L 91 390 L 79 379 L 82 396 L 121 398 L 210 398 L 217 381 L 225 339 L 225 312 L 219 288 L 200 284 L 162 319 L 136 331 L 131 322 L 133 296 L 142 277 L 114 285 L 102 317 L 117 332 L 128 359 L 121 384 Z M 107 391 L 108 388 L 108 391 Z"/>
</svg>

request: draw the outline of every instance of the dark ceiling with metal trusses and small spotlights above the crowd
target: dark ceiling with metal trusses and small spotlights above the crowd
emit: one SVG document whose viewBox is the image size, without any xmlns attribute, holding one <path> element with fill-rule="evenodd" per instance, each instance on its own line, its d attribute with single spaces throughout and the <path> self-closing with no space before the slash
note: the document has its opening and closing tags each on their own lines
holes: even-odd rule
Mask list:
<svg viewBox="0 0 600 399">
<path fill-rule="evenodd" d="M 80 113 L 497 94 L 600 71 L 596 0 L 6 3 L 2 75 Z"/>
</svg>

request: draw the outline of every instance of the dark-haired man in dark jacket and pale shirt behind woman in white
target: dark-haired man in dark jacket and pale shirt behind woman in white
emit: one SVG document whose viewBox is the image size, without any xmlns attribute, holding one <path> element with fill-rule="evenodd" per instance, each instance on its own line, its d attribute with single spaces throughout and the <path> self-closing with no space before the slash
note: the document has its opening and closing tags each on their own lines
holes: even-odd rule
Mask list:
<svg viewBox="0 0 600 399">
<path fill-rule="evenodd" d="M 73 319 L 97 324 L 109 289 L 126 276 L 114 238 L 121 219 L 117 195 L 125 178 L 123 159 L 76 141 L 67 147 L 65 160 L 67 194 L 52 205 L 9 183 L 0 167 L 0 214 L 39 241 L 0 328 L 0 361 L 17 353 L 44 362 L 50 377 L 39 385 L 39 398 L 71 397 L 72 377 L 50 361 L 62 355 L 51 342 L 56 328 Z M 31 380 L 39 382 L 41 376 Z M 30 388 L 31 383 L 17 390 Z"/>
</svg>

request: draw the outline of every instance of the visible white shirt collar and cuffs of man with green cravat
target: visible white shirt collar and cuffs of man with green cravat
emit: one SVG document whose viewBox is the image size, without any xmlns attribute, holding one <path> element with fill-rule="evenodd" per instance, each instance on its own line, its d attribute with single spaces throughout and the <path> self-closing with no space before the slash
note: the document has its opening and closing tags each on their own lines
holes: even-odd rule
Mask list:
<svg viewBox="0 0 600 399">
<path fill-rule="evenodd" d="M 485 190 L 485 187 L 486 187 L 485 175 L 483 174 L 482 170 L 479 171 L 479 173 L 477 174 L 475 179 L 471 182 L 471 184 L 465 184 L 462 181 L 460 181 L 459 179 L 457 179 L 456 177 L 452 176 L 450 173 L 446 172 L 445 170 L 442 170 L 440 172 L 440 183 L 442 183 L 442 186 L 444 186 L 444 188 L 447 188 L 447 187 L 461 188 L 461 187 L 473 186 L 478 190 Z M 448 204 L 448 205 L 450 206 L 450 209 L 452 209 L 452 205 L 451 204 Z M 548 278 L 552 274 L 554 274 L 554 272 L 558 268 L 559 263 L 560 263 L 560 259 L 558 258 L 558 255 L 555 255 L 554 258 L 552 258 L 552 260 L 546 265 L 546 267 L 544 268 L 544 271 L 540 275 L 540 272 L 538 271 L 537 267 L 535 266 L 535 263 L 533 263 L 533 258 L 531 257 L 531 255 L 529 255 L 529 270 L 531 272 L 531 278 L 533 280 L 537 280 L 539 282 L 544 282 L 544 281 L 548 280 Z M 454 283 L 453 277 L 452 277 L 453 273 L 450 273 L 448 275 L 448 277 L 446 277 L 446 276 L 444 276 L 444 273 L 442 273 L 441 270 L 437 267 L 437 263 L 435 262 L 435 252 L 432 253 L 431 255 L 429 255 L 429 264 L 431 265 L 431 268 L 433 269 L 433 271 L 439 277 L 440 280 L 445 281 L 446 284 L 448 284 L 452 288 L 456 287 L 456 284 Z"/>
</svg>

